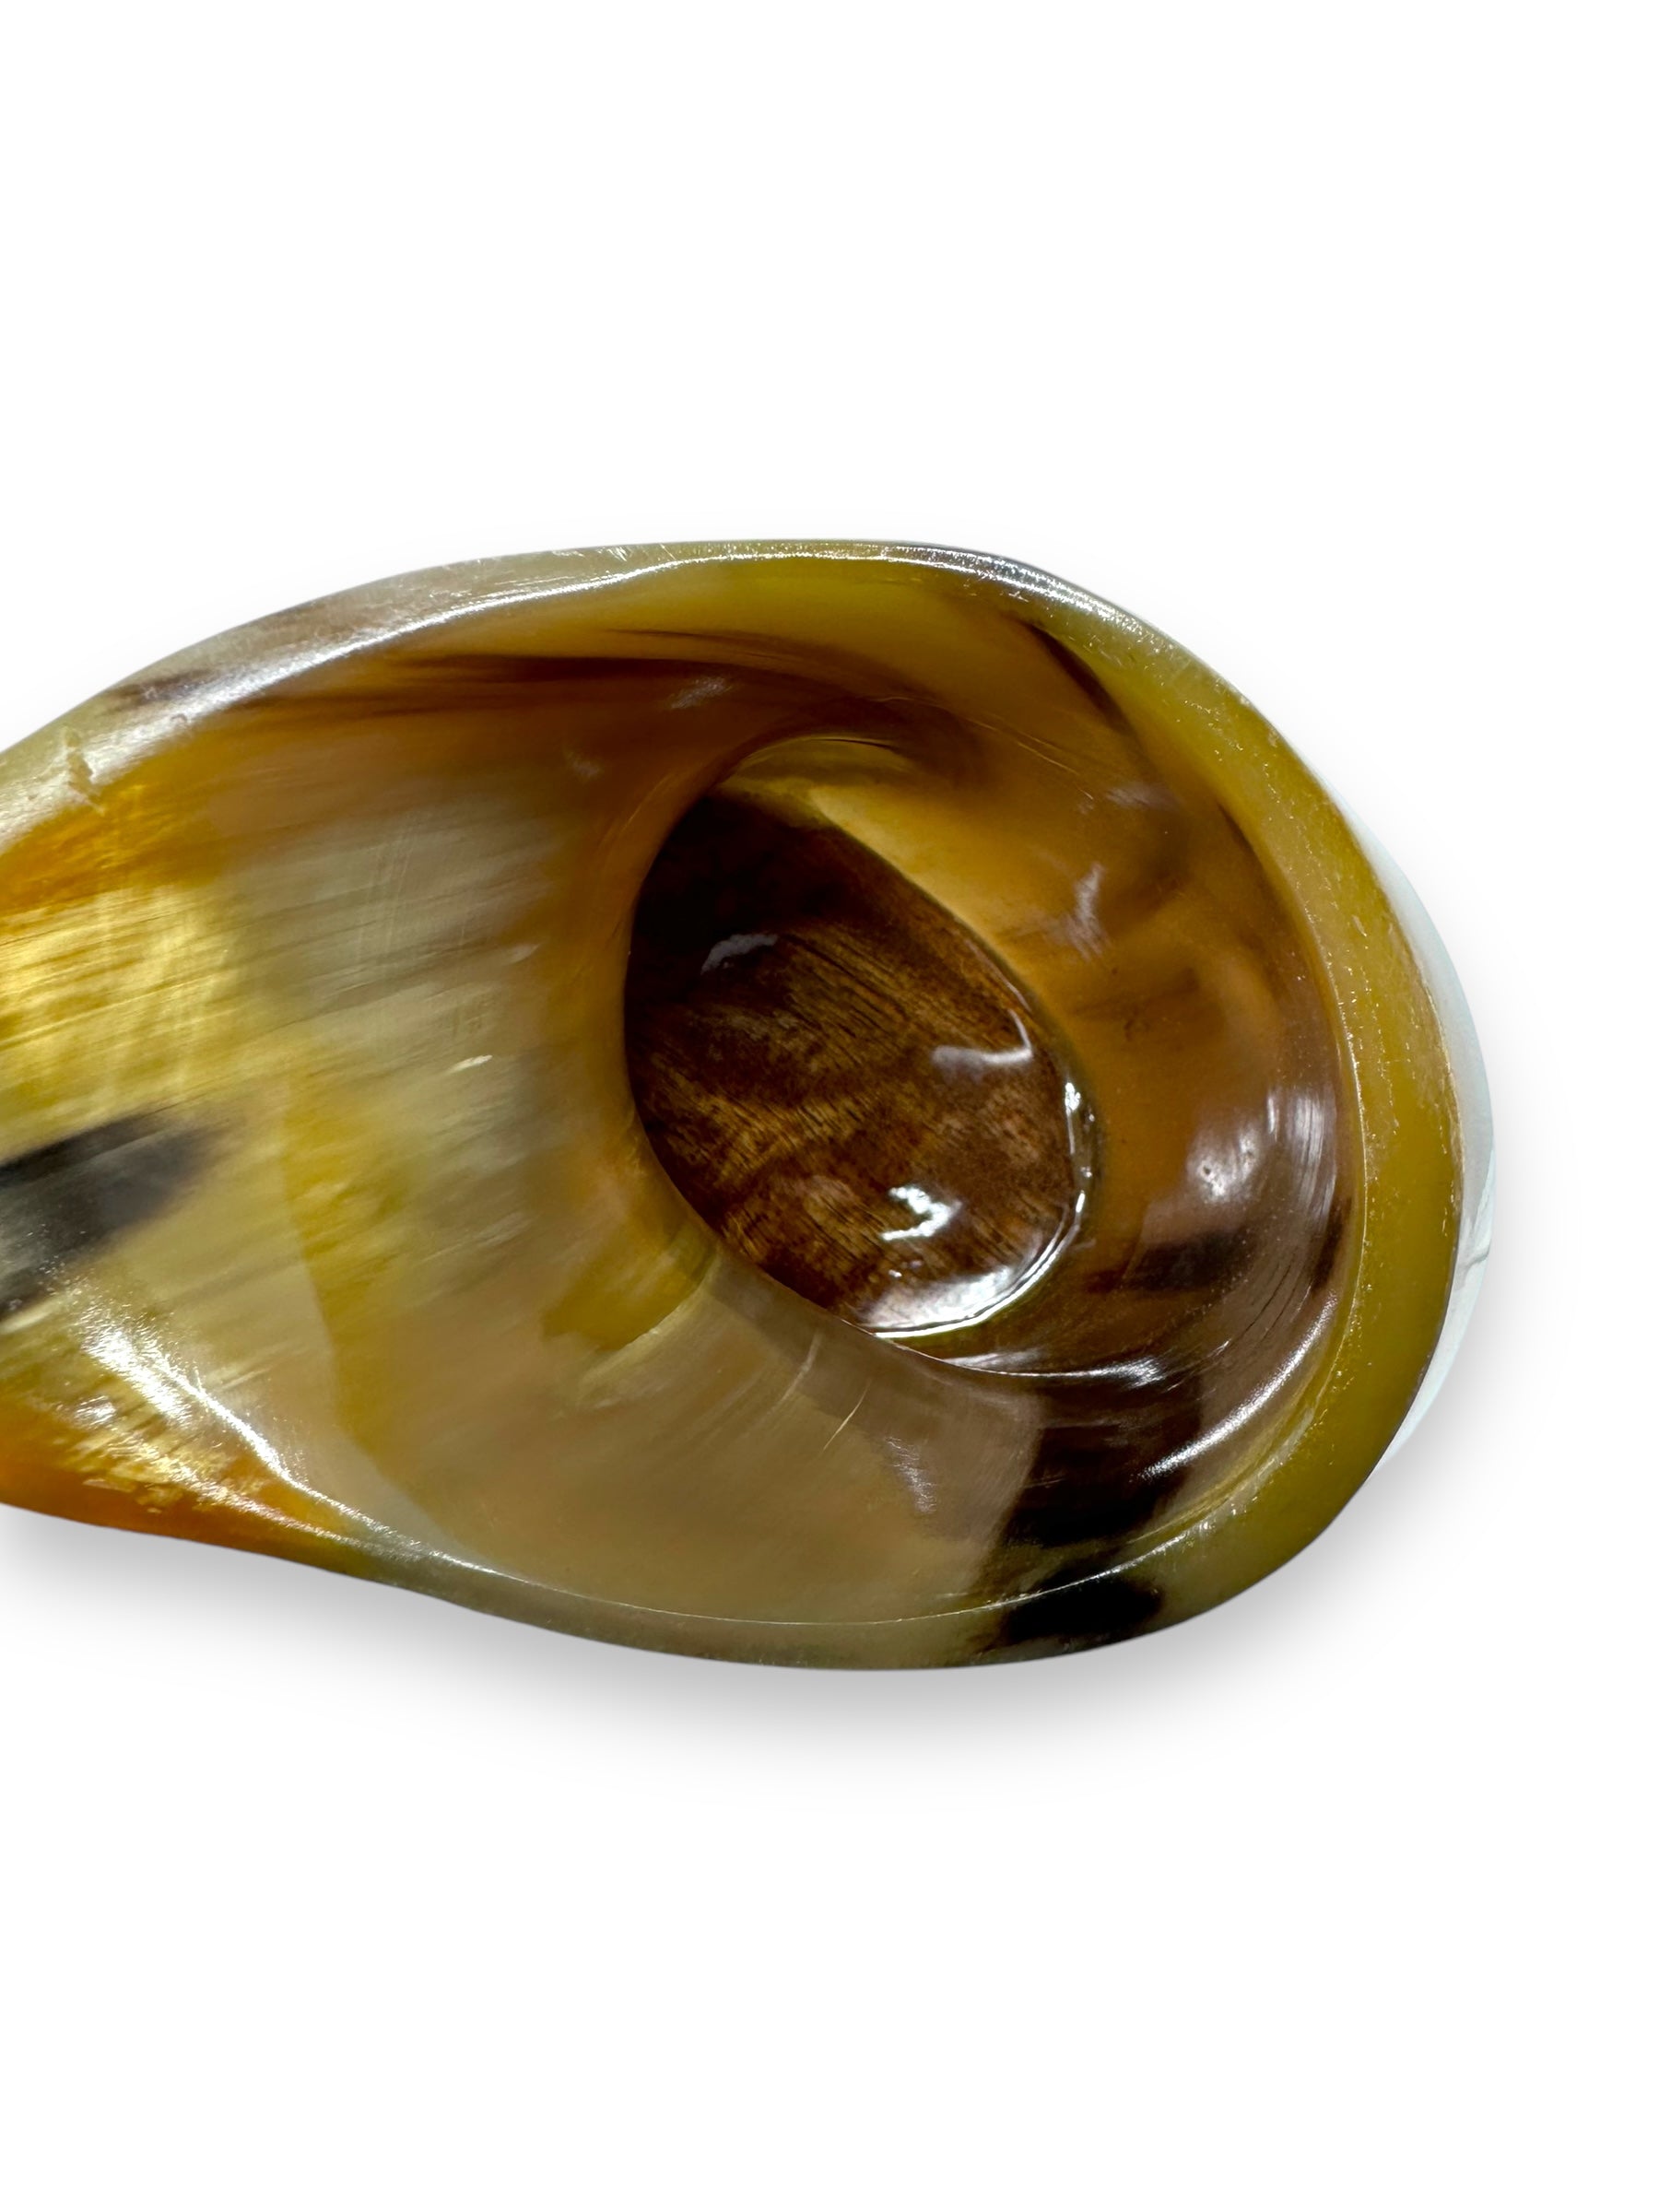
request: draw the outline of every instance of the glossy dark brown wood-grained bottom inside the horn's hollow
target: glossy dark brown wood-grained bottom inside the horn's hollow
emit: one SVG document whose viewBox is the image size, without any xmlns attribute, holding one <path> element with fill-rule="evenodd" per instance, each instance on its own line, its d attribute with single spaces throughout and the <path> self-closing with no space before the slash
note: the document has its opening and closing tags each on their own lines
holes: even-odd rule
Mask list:
<svg viewBox="0 0 1659 2212">
<path fill-rule="evenodd" d="M 684 1194 L 836 1314 L 947 1318 L 1064 1232 L 1064 1075 L 1035 1015 L 960 922 L 834 827 L 730 794 L 692 807 L 639 902 L 626 1022 Z"/>
</svg>

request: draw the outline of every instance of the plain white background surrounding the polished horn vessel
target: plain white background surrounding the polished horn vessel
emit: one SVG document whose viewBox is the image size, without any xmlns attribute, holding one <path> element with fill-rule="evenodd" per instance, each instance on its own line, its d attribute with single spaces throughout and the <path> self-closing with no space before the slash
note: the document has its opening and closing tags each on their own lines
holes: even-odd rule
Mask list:
<svg viewBox="0 0 1659 2212">
<path fill-rule="evenodd" d="M 1020 555 L 1391 847 L 1500 1208 L 1409 1449 L 1091 1657 L 706 1666 L 0 1513 L 7 2205 L 1655 2201 L 1646 20 L 11 18 L 0 732 L 467 555 Z"/>
</svg>

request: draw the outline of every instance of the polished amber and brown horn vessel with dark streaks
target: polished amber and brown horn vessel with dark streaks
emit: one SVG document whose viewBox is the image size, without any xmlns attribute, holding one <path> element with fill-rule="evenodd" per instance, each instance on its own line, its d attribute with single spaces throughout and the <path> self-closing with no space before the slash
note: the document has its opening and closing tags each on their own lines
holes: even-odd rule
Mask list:
<svg viewBox="0 0 1659 2212">
<path fill-rule="evenodd" d="M 0 761 L 0 1495 L 949 1666 L 1279 1566 L 1486 1243 L 1416 900 L 1219 677 L 898 544 L 434 568 Z"/>
</svg>

